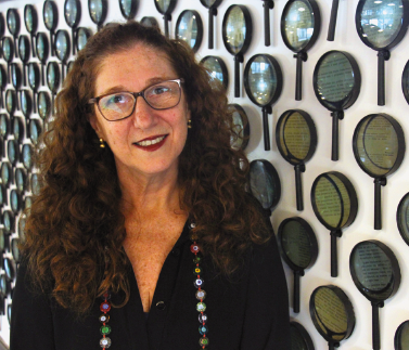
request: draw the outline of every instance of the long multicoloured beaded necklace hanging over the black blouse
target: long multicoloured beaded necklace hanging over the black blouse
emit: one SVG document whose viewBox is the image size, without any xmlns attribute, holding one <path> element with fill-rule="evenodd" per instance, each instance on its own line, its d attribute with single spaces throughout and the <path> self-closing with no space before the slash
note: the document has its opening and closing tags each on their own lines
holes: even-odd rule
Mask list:
<svg viewBox="0 0 409 350">
<path fill-rule="evenodd" d="M 189 224 L 190 230 L 192 230 L 194 228 L 195 228 L 194 223 Z M 192 245 L 190 246 L 190 251 L 192 251 L 194 254 L 193 274 L 195 275 L 195 280 L 193 282 L 193 285 L 197 288 L 197 290 L 195 293 L 195 297 L 199 300 L 199 302 L 196 303 L 196 310 L 199 312 L 199 323 L 200 323 L 199 333 L 201 335 L 201 337 L 199 339 L 199 345 L 200 345 L 201 349 L 205 349 L 208 346 L 208 337 L 207 337 L 208 327 L 206 325 L 207 314 L 204 313 L 206 311 L 206 304 L 203 302 L 203 300 L 206 298 L 206 291 L 204 289 L 202 289 L 204 281 L 201 277 L 201 273 L 202 273 L 201 262 L 202 262 L 203 257 L 202 257 L 202 254 L 201 254 L 201 248 L 200 248 L 199 244 L 196 243 L 197 237 L 194 234 L 191 234 L 190 238 L 192 241 Z M 103 350 L 105 350 L 105 349 L 110 348 L 111 343 L 112 343 L 111 338 L 107 337 L 107 335 L 112 330 L 111 326 L 107 324 L 110 322 L 108 312 L 111 310 L 111 302 L 108 300 L 111 299 L 111 294 L 108 291 L 105 291 L 105 294 L 102 296 L 102 298 L 103 298 L 103 301 L 100 306 L 100 310 L 103 313 L 99 317 L 100 322 L 102 323 L 102 326 L 100 327 L 100 332 L 101 332 L 101 335 L 102 335 L 102 338 L 100 339 L 100 346 Z"/>
</svg>

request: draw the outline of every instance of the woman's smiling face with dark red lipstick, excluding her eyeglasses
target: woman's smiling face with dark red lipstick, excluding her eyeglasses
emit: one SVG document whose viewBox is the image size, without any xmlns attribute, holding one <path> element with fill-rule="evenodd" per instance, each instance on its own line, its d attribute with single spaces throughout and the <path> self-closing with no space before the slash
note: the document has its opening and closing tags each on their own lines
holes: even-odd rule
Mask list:
<svg viewBox="0 0 409 350">
<path fill-rule="evenodd" d="M 140 92 L 165 80 L 179 78 L 165 53 L 137 44 L 107 56 L 95 79 L 94 96 L 119 91 Z M 182 92 L 177 106 L 155 111 L 143 98 L 129 118 L 108 121 L 94 105 L 90 124 L 112 150 L 120 177 L 175 176 L 187 135 L 190 111 Z"/>
</svg>

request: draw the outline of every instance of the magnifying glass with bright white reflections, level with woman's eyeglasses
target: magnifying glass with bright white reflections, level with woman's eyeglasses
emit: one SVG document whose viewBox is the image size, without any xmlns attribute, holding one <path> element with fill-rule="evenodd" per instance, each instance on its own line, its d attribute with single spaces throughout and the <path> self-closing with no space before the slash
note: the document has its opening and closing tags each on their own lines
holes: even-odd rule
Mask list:
<svg viewBox="0 0 409 350">
<path fill-rule="evenodd" d="M 280 98 L 283 76 L 276 59 L 269 54 L 256 54 L 248 60 L 244 69 L 244 88 L 248 99 L 261 107 L 264 148 L 270 151 L 268 115 L 271 105 Z"/>
</svg>

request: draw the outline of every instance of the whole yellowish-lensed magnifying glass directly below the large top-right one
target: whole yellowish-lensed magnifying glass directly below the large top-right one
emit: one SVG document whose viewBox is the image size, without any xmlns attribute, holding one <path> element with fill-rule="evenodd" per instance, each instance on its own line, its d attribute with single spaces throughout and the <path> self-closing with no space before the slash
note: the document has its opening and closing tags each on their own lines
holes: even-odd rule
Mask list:
<svg viewBox="0 0 409 350">
<path fill-rule="evenodd" d="M 386 185 L 386 176 L 395 172 L 404 160 L 404 130 L 387 114 L 370 114 L 358 122 L 353 148 L 359 167 L 374 178 L 374 229 L 381 230 L 381 186 Z"/>
</svg>

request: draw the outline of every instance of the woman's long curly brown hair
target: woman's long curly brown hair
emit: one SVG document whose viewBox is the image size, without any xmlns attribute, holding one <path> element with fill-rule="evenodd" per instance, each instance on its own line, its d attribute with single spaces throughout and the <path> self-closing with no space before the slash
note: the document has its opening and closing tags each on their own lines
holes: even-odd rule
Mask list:
<svg viewBox="0 0 409 350">
<path fill-rule="evenodd" d="M 138 43 L 164 52 L 184 80 L 192 129 L 179 157 L 180 202 L 196 224 L 205 254 L 229 275 L 252 242 L 269 236 L 265 217 L 245 192 L 248 160 L 230 145 L 238 135 L 221 85 L 212 81 L 184 42 L 137 22 L 110 24 L 78 53 L 56 96 L 55 119 L 38 152 L 41 190 L 22 247 L 36 285 L 79 313 L 106 289 L 125 291 L 124 303 L 129 297 L 114 156 L 99 146 L 88 101 L 102 62 Z"/>
</svg>

